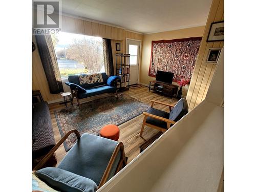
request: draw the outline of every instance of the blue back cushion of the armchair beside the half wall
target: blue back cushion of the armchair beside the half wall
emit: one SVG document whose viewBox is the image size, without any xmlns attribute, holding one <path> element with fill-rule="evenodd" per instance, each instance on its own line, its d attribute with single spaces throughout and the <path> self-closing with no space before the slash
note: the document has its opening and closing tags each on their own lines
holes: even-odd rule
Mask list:
<svg viewBox="0 0 256 192">
<path fill-rule="evenodd" d="M 184 98 L 181 98 L 176 103 L 173 110 L 170 111 L 169 119 L 177 122 L 187 113 L 188 113 L 187 100 Z"/>
</svg>

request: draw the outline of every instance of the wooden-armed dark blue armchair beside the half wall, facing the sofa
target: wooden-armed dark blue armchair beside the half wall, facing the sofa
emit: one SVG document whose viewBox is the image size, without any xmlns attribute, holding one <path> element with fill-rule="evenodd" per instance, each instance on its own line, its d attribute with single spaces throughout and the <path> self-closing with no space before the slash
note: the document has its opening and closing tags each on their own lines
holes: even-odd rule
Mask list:
<svg viewBox="0 0 256 192">
<path fill-rule="evenodd" d="M 169 129 L 170 126 L 175 124 L 178 120 L 180 120 L 184 115 L 188 113 L 187 101 L 184 98 L 181 98 L 176 105 L 156 100 L 151 100 L 151 102 L 151 108 L 147 112 L 143 113 L 144 119 L 140 131 L 140 136 L 143 133 L 145 125 L 151 126 L 154 129 L 165 132 Z M 165 111 L 153 108 L 154 103 L 168 106 L 170 112 L 167 113 Z"/>
</svg>

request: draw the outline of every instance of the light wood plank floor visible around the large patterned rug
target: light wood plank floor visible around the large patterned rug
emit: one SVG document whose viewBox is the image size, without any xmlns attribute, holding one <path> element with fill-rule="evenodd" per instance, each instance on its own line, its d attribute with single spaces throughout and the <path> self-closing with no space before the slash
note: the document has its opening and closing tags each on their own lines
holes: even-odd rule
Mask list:
<svg viewBox="0 0 256 192">
<path fill-rule="evenodd" d="M 178 101 L 176 98 L 170 99 L 170 97 L 157 94 L 153 91 L 148 92 L 148 88 L 144 87 L 144 86 L 142 86 L 141 88 L 136 88 L 136 89 L 130 88 L 129 91 L 124 91 L 122 93 L 130 95 L 131 97 L 133 97 L 141 102 L 144 102 L 148 105 L 151 104 L 151 102 L 150 102 L 151 99 L 159 100 L 159 101 L 167 102 L 167 103 L 172 103 L 172 104 L 176 104 L 176 102 Z M 96 98 L 103 98 L 108 95 L 110 95 L 110 94 L 102 94 L 102 95 L 99 95 L 96 97 L 91 97 L 84 101 L 88 102 L 88 101 L 94 100 Z M 74 100 L 76 100 L 76 99 L 74 99 Z M 74 102 L 74 104 L 76 104 L 76 103 Z M 54 116 L 54 111 L 59 110 L 61 108 L 65 108 L 65 106 L 63 104 L 60 105 L 59 103 L 53 103 L 53 104 L 49 104 L 49 108 L 50 108 L 50 113 L 51 113 L 54 137 L 55 137 L 55 141 L 57 143 L 61 139 L 61 136 L 60 136 L 60 133 L 58 130 L 58 125 L 57 125 L 57 122 L 56 122 L 56 119 Z M 154 108 L 169 112 L 168 107 L 161 105 L 161 104 L 155 103 Z M 123 144 L 124 144 L 125 156 L 128 157 L 127 163 L 131 162 L 137 155 L 139 155 L 139 153 L 140 153 L 139 146 L 146 140 L 150 139 L 153 135 L 155 135 L 158 132 L 158 130 L 155 130 L 155 129 L 152 129 L 151 127 L 145 126 L 142 137 L 140 137 L 139 134 L 140 134 L 143 117 L 144 116 L 141 114 L 141 115 L 118 126 L 120 129 L 119 141 L 123 142 Z M 66 155 L 66 151 L 62 144 L 56 151 L 57 162 L 59 163 L 65 155 Z"/>
</svg>

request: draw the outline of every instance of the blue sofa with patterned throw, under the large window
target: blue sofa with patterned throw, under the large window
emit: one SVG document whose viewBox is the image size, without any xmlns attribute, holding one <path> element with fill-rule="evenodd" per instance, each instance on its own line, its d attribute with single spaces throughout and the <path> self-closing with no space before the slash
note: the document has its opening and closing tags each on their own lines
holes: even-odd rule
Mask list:
<svg viewBox="0 0 256 192">
<path fill-rule="evenodd" d="M 79 109 L 81 110 L 80 99 L 99 95 L 102 93 L 116 93 L 116 80 L 118 76 L 108 77 L 106 73 L 93 73 L 93 74 L 77 74 L 69 75 L 66 84 L 70 87 L 73 101 L 74 97 L 77 99 Z"/>
</svg>

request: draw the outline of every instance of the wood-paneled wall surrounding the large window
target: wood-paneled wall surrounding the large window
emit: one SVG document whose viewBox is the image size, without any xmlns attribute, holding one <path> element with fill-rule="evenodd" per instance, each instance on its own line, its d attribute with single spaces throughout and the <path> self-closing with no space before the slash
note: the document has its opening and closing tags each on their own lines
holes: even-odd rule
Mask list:
<svg viewBox="0 0 256 192">
<path fill-rule="evenodd" d="M 90 36 L 99 36 L 102 38 L 111 39 L 112 53 L 115 67 L 115 54 L 125 53 L 126 51 L 126 38 L 143 40 L 143 35 L 135 32 L 126 31 L 121 28 L 89 22 L 69 16 L 62 16 L 62 31 L 69 33 L 84 34 Z M 32 37 L 36 45 L 35 38 Z M 116 42 L 121 44 L 121 51 L 116 51 Z M 50 94 L 48 82 L 45 76 L 44 69 L 41 65 L 38 49 L 32 54 L 32 89 L 40 90 L 42 97 L 45 101 L 51 102 L 59 100 L 62 97 L 59 94 Z"/>
</svg>

